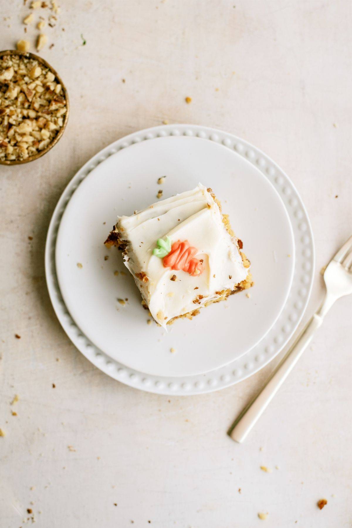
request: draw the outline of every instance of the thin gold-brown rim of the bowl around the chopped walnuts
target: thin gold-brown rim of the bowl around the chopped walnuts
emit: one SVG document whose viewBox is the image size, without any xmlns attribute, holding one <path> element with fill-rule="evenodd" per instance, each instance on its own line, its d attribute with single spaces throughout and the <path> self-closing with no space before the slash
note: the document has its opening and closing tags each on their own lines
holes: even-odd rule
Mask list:
<svg viewBox="0 0 352 528">
<path fill-rule="evenodd" d="M 53 139 L 49 143 L 49 145 L 47 145 L 43 150 L 40 150 L 39 152 L 36 152 L 35 154 L 32 154 L 32 155 L 28 156 L 25 159 L 0 159 L 0 165 L 20 165 L 22 163 L 32 162 L 34 159 L 37 159 L 37 158 L 40 158 L 41 156 L 44 156 L 44 154 L 49 152 L 49 150 L 51 150 L 53 148 L 53 146 L 56 145 L 56 143 L 58 143 L 59 139 L 62 137 L 62 134 L 64 133 L 64 130 L 66 128 L 66 125 L 67 125 L 67 122 L 68 122 L 68 119 L 69 119 L 70 103 L 69 103 L 68 91 L 66 90 L 66 87 L 65 87 L 64 83 L 62 82 L 61 77 L 59 76 L 59 74 L 56 72 L 56 70 L 54 70 L 54 68 L 48 62 L 46 62 L 44 59 L 42 59 L 38 55 L 35 55 L 34 53 L 30 53 L 30 52 L 15 51 L 15 50 L 0 51 L 0 59 L 2 59 L 4 56 L 9 56 L 9 55 L 17 55 L 19 57 L 23 56 L 23 57 L 25 57 L 27 59 L 34 59 L 34 60 L 38 61 L 40 64 L 42 64 L 45 68 L 48 68 L 50 70 L 50 72 L 53 73 L 53 75 L 55 76 L 55 81 L 57 81 L 59 84 L 61 84 L 61 88 L 62 88 L 61 96 L 66 101 L 66 105 L 65 105 L 66 112 L 63 115 L 63 124 L 60 127 L 60 129 L 58 131 L 58 134 L 56 134 L 53 137 Z M 1 108 L 3 108 L 3 107 L 0 105 L 0 109 Z"/>
</svg>

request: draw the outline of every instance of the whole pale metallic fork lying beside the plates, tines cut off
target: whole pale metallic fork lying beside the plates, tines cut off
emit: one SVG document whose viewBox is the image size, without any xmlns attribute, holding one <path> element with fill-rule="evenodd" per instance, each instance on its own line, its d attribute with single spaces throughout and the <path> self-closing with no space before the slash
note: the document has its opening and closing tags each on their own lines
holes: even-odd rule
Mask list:
<svg viewBox="0 0 352 528">
<path fill-rule="evenodd" d="M 282 361 L 271 374 L 263 389 L 243 409 L 236 418 L 229 434 L 236 442 L 243 442 L 256 421 L 268 407 L 282 383 L 296 365 L 302 353 L 312 340 L 313 334 L 319 328 L 325 315 L 337 299 L 352 293 L 352 237 L 338 250 L 330 260 L 324 272 L 326 295 L 317 313 L 313 315 L 306 327 Z"/>
</svg>

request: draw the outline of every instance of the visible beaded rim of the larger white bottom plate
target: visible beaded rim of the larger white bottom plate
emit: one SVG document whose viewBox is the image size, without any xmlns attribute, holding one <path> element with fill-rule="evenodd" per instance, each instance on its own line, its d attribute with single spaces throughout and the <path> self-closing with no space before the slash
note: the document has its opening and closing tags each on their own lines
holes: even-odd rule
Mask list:
<svg viewBox="0 0 352 528">
<path fill-rule="evenodd" d="M 296 263 L 291 291 L 282 313 L 267 335 L 244 356 L 204 374 L 172 377 L 154 376 L 126 367 L 97 348 L 70 316 L 56 277 L 55 244 L 66 205 L 79 184 L 97 165 L 122 148 L 166 136 L 194 136 L 219 143 L 243 156 L 273 184 L 288 212 L 296 246 Z M 305 312 L 315 265 L 313 237 L 302 200 L 286 174 L 267 155 L 232 134 L 196 125 L 165 125 L 138 131 L 117 140 L 93 156 L 72 178 L 53 213 L 45 248 L 45 271 L 49 295 L 59 321 L 73 344 L 91 363 L 112 378 L 137 389 L 157 394 L 199 394 L 223 389 L 248 378 L 269 363 L 287 344 Z"/>
</svg>

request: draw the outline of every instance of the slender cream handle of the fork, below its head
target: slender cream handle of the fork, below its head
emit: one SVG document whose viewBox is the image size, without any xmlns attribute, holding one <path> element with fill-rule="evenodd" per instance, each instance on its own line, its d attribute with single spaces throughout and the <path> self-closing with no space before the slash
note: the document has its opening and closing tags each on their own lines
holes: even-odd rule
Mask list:
<svg viewBox="0 0 352 528">
<path fill-rule="evenodd" d="M 282 383 L 296 365 L 302 353 L 312 340 L 313 334 L 322 323 L 322 317 L 314 314 L 305 326 L 297 340 L 293 343 L 289 351 L 284 355 L 274 372 L 271 374 L 264 388 L 256 397 L 243 409 L 240 416 L 236 418 L 230 436 L 236 442 L 243 442 L 256 421 L 261 417 L 268 407 L 274 395 L 278 392 Z"/>
</svg>

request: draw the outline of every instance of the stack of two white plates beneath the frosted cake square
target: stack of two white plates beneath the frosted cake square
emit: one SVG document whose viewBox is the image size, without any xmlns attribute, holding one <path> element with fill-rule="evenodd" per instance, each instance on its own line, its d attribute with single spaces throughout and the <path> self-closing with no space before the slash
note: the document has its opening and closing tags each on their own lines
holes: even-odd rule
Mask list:
<svg viewBox="0 0 352 528">
<path fill-rule="evenodd" d="M 174 137 L 179 135 L 197 135 L 203 141 Z M 167 137 L 145 141 L 157 136 Z M 217 143 L 223 143 L 227 148 Z M 120 152 L 122 148 L 125 150 Z M 102 163 L 118 151 L 117 155 Z M 85 179 L 89 173 L 91 176 Z M 120 280 L 122 277 L 113 276 L 113 270 L 123 269 L 122 262 L 116 266 L 111 251 L 109 260 L 104 261 L 107 251 L 100 246 L 118 213 L 129 214 L 155 200 L 159 188 L 156 179 L 163 174 L 167 174 L 166 182 L 169 182 L 163 187 L 165 196 L 191 188 L 199 180 L 214 188 L 224 210 L 231 215 L 236 233 L 244 240 L 256 282 L 250 299 L 241 293 L 226 303 L 208 307 L 192 322 L 176 322 L 166 337 L 160 337 L 164 334 L 161 328 L 146 325 L 146 315 L 139 308 L 134 282 L 128 276 L 123 277 L 123 281 Z M 80 183 L 82 180 L 84 182 Z M 283 202 L 268 184 L 269 180 L 280 192 Z M 244 198 L 240 197 L 239 185 Z M 253 199 L 246 201 L 251 194 Z M 125 200 L 119 204 L 122 197 Z M 54 242 L 67 202 L 69 205 L 62 220 L 56 251 L 64 302 L 54 276 Z M 295 279 L 288 302 L 274 323 L 285 304 L 294 264 L 288 216 L 298 249 Z M 106 225 L 103 225 L 104 221 Z M 77 268 L 77 262 L 82 262 L 82 269 Z M 196 126 L 165 126 L 141 131 L 94 156 L 73 178 L 60 199 L 46 247 L 50 295 L 73 342 L 104 372 L 153 392 L 184 394 L 215 390 L 258 370 L 281 350 L 296 329 L 308 301 L 312 272 L 313 243 L 309 220 L 287 176 L 267 156 L 240 139 Z M 275 285 L 279 285 L 277 290 Z M 120 307 L 117 312 L 116 297 L 122 296 L 129 298 L 128 305 Z M 97 302 L 98 306 L 94 307 Z M 107 323 L 104 323 L 106 319 Z M 221 326 L 224 320 L 226 324 Z M 103 332 L 99 330 L 104 324 L 108 324 L 111 336 L 107 340 L 108 354 L 102 341 Z M 215 334 L 215 329 L 221 345 L 217 344 L 217 339 L 208 345 L 206 341 L 214 340 L 212 333 Z M 124 333 L 128 334 L 128 341 L 121 346 Z M 202 341 L 203 335 L 207 340 Z M 100 350 L 99 345 L 96 346 L 99 340 Z M 169 353 L 171 346 L 176 348 L 176 354 Z M 250 348 L 240 360 L 239 356 Z M 123 366 L 128 364 L 134 368 Z M 227 366 L 218 368 L 225 364 Z M 194 374 L 201 371 L 209 372 Z"/>
</svg>

